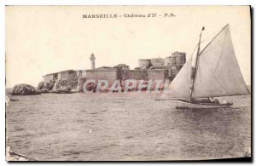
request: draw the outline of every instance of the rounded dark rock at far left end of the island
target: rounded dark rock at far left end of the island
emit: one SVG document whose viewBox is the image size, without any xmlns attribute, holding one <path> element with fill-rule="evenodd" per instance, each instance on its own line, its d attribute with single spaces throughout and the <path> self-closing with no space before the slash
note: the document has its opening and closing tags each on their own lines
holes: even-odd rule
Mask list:
<svg viewBox="0 0 256 166">
<path fill-rule="evenodd" d="M 15 85 L 12 90 L 12 95 L 35 95 L 41 94 L 37 89 L 35 89 L 32 85 L 20 83 Z"/>
</svg>

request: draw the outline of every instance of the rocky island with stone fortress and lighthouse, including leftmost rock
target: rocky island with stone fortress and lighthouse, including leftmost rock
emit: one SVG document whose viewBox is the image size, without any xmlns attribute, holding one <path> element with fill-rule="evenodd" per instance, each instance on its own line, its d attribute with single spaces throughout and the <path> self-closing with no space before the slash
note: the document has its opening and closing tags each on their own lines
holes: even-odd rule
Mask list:
<svg viewBox="0 0 256 166">
<path fill-rule="evenodd" d="M 176 51 L 165 59 L 140 59 L 138 60 L 138 67 L 134 70 L 130 70 L 130 67 L 125 64 L 96 68 L 95 60 L 95 55 L 91 54 L 91 68 L 89 70 L 67 70 L 47 74 L 43 76 L 44 81 L 38 83 L 37 89 L 31 85 L 19 84 L 15 86 L 12 94 L 70 94 L 84 92 L 84 90 L 92 92 L 162 90 L 164 89 L 164 83 L 166 81 L 172 82 L 177 72 L 181 70 L 186 62 L 186 54 Z M 92 82 L 84 85 L 87 80 L 92 80 Z M 108 83 L 102 84 L 101 80 L 107 80 Z M 133 83 L 129 82 L 131 80 Z M 97 88 L 99 83 L 100 88 Z M 115 85 L 117 86 L 115 87 Z M 125 86 L 130 86 L 130 88 L 125 89 Z"/>
</svg>

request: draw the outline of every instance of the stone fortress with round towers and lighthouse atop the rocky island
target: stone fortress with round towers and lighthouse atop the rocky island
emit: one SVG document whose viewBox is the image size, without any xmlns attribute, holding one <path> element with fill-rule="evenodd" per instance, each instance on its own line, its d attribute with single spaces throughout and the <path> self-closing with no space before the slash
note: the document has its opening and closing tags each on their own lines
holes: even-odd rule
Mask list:
<svg viewBox="0 0 256 166">
<path fill-rule="evenodd" d="M 125 64 L 117 66 L 102 66 L 96 68 L 96 57 L 94 54 L 90 55 L 90 69 L 88 70 L 67 70 L 61 72 L 50 73 L 44 75 L 44 83 L 50 81 L 64 80 L 77 80 L 79 78 L 94 79 L 94 80 L 108 80 L 111 85 L 115 80 L 120 82 L 127 79 L 135 80 L 162 80 L 170 82 L 177 75 L 177 72 L 183 67 L 186 62 L 186 54 L 181 52 L 174 52 L 171 56 L 154 59 L 140 59 L 138 66 L 131 70 Z"/>
</svg>

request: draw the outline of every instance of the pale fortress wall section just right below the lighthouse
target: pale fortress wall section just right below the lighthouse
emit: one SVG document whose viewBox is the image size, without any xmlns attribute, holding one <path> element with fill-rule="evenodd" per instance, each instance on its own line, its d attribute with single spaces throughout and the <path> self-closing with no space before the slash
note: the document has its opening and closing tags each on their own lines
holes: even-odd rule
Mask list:
<svg viewBox="0 0 256 166">
<path fill-rule="evenodd" d="M 94 79 L 98 81 L 108 80 L 109 86 L 113 84 L 118 77 L 118 70 L 116 69 L 102 69 L 102 70 L 86 70 L 86 79 Z"/>
</svg>

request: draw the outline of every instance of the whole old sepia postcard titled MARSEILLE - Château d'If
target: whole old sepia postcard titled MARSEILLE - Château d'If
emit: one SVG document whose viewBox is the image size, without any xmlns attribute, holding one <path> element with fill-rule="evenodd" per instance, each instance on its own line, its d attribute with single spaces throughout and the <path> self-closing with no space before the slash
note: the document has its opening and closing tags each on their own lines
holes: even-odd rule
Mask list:
<svg viewBox="0 0 256 166">
<path fill-rule="evenodd" d="M 251 161 L 250 6 L 6 6 L 7 161 Z"/>
</svg>

